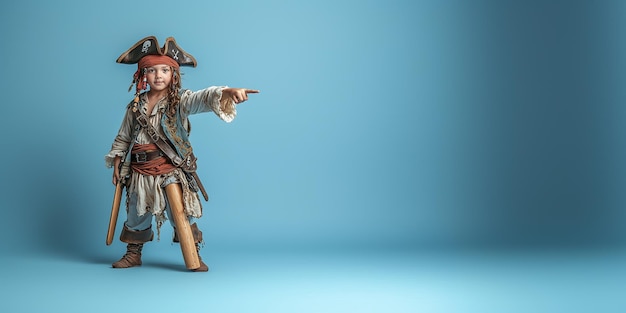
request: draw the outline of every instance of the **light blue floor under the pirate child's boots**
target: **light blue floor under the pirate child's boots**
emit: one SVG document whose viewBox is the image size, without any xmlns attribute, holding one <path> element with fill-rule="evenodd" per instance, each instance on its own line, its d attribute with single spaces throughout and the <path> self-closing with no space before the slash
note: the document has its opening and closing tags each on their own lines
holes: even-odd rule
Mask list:
<svg viewBox="0 0 626 313">
<path fill-rule="evenodd" d="M 210 250 L 208 273 L 165 243 L 130 269 L 5 254 L 0 312 L 626 312 L 626 251 Z"/>
</svg>

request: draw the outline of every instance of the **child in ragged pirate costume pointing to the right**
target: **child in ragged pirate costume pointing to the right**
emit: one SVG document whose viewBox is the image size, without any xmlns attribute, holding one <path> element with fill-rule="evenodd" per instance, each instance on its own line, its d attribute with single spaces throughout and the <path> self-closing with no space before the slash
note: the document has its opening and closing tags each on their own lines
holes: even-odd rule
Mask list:
<svg viewBox="0 0 626 313">
<path fill-rule="evenodd" d="M 137 63 L 138 68 L 132 82 L 136 85 L 135 99 L 128 105 L 111 150 L 105 156 L 106 166 L 113 167 L 113 184 L 121 182 L 126 186 L 127 219 L 120 240 L 128 245 L 126 254 L 112 266 L 140 266 L 143 245 L 154 236 L 152 216 L 156 218 L 157 234 L 168 219 L 166 213 L 176 229 L 172 207 L 184 208 L 195 243 L 194 253 L 199 252 L 202 232 L 194 223 L 194 219 L 202 216 L 198 191 L 205 200 L 208 197 L 195 175 L 196 159 L 188 140 L 188 116 L 212 111 L 230 122 L 237 114 L 236 104 L 248 100 L 249 93 L 259 91 L 216 86 L 196 92 L 183 90 L 180 66 L 197 64 L 172 37 L 167 38 L 163 48 L 155 37 L 146 37 L 120 55 L 117 63 Z M 170 187 L 176 186 L 172 184 L 180 186 L 176 188 L 179 196 L 170 194 Z M 179 241 L 178 236 L 175 231 L 175 242 Z M 201 258 L 199 264 L 200 267 L 192 271 L 208 271 Z"/>
</svg>

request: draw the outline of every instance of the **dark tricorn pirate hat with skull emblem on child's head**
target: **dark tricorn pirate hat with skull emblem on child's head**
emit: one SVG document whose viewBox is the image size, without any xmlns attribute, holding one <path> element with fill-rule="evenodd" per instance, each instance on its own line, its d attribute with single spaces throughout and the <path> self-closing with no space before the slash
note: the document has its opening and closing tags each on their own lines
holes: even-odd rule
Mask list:
<svg viewBox="0 0 626 313">
<path fill-rule="evenodd" d="M 165 39 L 165 45 L 163 48 L 159 47 L 159 42 L 156 37 L 148 36 L 144 39 L 137 41 L 130 49 L 122 53 L 117 58 L 117 63 L 122 64 L 136 64 L 146 55 L 165 55 L 172 58 L 180 66 L 192 66 L 196 67 L 198 63 L 196 59 L 185 50 L 181 49 L 174 37 L 168 37 Z"/>
</svg>

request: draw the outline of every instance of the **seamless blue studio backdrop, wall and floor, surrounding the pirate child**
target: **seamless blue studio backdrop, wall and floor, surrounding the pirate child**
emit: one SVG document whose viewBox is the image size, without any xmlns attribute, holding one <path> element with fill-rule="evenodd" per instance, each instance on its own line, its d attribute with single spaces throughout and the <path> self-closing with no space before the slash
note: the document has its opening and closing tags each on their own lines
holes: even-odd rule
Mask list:
<svg viewBox="0 0 626 313">
<path fill-rule="evenodd" d="M 202 288 L 221 290 L 219 301 L 196 303 L 218 311 L 235 305 L 234 311 L 485 312 L 528 299 L 531 287 L 502 288 L 519 286 L 520 279 L 523 286 L 561 290 L 556 299 L 572 297 L 563 293 L 564 281 L 580 286 L 572 287 L 574 295 L 588 295 L 590 279 L 601 290 L 619 290 L 626 278 L 620 269 L 625 6 L 3 4 L 0 250 L 3 277 L 13 286 L 3 282 L 3 305 L 10 312 L 37 310 L 27 298 L 35 285 L 56 290 L 43 303 L 65 312 L 100 301 L 111 311 L 122 304 L 101 295 L 120 289 L 119 279 L 146 279 L 163 290 L 155 287 L 160 276 L 174 285 L 197 284 L 196 296 L 207 291 Z M 170 273 L 182 258 L 169 244 L 169 226 L 149 248 L 146 257 L 153 259 L 144 260 L 158 266 L 108 268 L 124 246 L 104 245 L 113 196 L 104 155 L 132 96 L 126 90 L 135 70 L 115 59 L 149 35 L 160 42 L 174 36 L 198 60 L 197 68 L 183 68 L 186 88 L 261 90 L 230 124 L 212 114 L 191 119 L 199 175 L 211 197 L 199 224 L 207 241 L 202 254 L 214 270 L 203 278 Z M 570 258 L 571 249 L 593 252 Z M 493 251 L 501 258 L 485 261 Z M 548 269 L 535 256 L 545 251 L 557 252 Z M 446 260 L 457 263 L 442 265 Z M 570 261 L 565 270 L 563 260 Z M 358 264 L 363 268 L 355 270 Z M 617 272 L 607 270 L 612 265 Z M 598 268 L 607 272 L 593 271 Z M 281 285 L 291 282 L 288 273 L 312 285 Z M 87 287 L 76 291 L 74 283 Z M 255 296 L 242 296 L 238 284 Z M 83 292 L 87 304 L 55 302 L 65 289 Z M 468 289 L 474 294 L 459 296 Z M 337 296 L 346 290 L 353 292 Z M 607 307 L 620 307 L 612 293 L 604 295 Z M 326 306 L 311 306 L 310 299 Z M 535 311 L 567 305 L 540 300 L 525 305 Z"/>
</svg>

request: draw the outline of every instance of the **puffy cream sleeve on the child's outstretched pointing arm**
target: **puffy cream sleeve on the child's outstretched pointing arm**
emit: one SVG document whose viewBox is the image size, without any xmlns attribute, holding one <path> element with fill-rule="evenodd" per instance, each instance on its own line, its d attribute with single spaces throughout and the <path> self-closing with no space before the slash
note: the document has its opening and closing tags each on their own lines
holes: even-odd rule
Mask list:
<svg viewBox="0 0 626 313">
<path fill-rule="evenodd" d="M 198 91 L 185 90 L 180 97 L 183 115 L 212 111 L 223 121 L 230 123 L 237 116 L 237 108 L 232 99 L 222 101 L 222 89 L 226 86 L 212 86 Z"/>
</svg>

